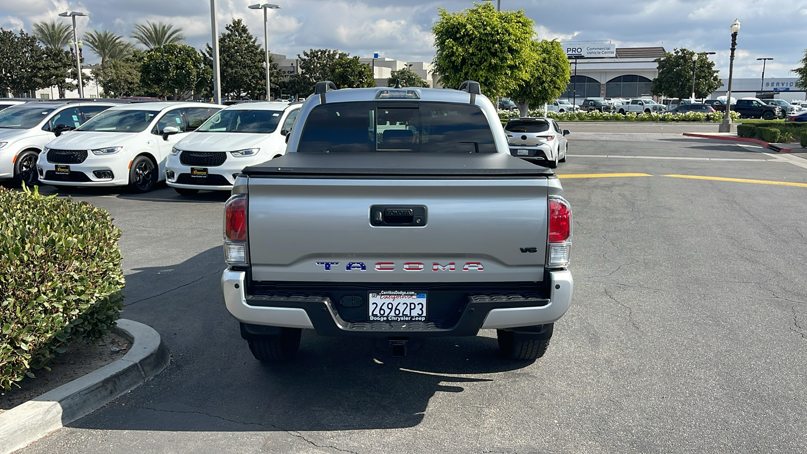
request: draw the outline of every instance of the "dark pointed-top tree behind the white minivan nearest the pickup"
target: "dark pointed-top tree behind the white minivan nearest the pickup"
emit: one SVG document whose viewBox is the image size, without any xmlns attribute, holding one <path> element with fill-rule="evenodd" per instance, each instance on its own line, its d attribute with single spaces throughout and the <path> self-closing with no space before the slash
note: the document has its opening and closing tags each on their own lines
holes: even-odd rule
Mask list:
<svg viewBox="0 0 807 454">
<path fill-rule="evenodd" d="M 266 95 L 263 47 L 257 44 L 257 38 L 249 32 L 249 28 L 241 19 L 232 19 L 232 23 L 224 28 L 227 32 L 219 36 L 222 96 L 258 99 Z M 212 55 L 210 44 L 207 44 L 207 51 L 204 53 L 205 64 L 211 68 Z M 282 80 L 283 74 L 271 56 L 269 65 L 270 85 L 275 85 Z"/>
</svg>

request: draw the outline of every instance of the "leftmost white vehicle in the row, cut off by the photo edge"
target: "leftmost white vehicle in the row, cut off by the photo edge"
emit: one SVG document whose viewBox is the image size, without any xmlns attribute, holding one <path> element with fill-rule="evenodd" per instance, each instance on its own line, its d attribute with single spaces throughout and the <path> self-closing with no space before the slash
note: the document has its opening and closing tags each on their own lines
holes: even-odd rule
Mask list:
<svg viewBox="0 0 807 454">
<path fill-rule="evenodd" d="M 31 101 L 0 111 L 0 179 L 36 184 L 36 159 L 56 135 L 120 103 Z"/>
</svg>

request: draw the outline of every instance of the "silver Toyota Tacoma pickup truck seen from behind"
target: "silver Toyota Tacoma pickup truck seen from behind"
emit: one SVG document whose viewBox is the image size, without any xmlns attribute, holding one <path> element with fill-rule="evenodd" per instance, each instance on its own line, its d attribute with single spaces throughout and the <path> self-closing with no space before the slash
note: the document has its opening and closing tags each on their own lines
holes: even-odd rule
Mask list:
<svg viewBox="0 0 807 454">
<path fill-rule="evenodd" d="M 510 155 L 477 82 L 335 88 L 225 205 L 221 286 L 255 358 L 293 358 L 304 329 L 393 356 L 490 329 L 509 358 L 544 355 L 573 290 L 557 176 Z"/>
</svg>

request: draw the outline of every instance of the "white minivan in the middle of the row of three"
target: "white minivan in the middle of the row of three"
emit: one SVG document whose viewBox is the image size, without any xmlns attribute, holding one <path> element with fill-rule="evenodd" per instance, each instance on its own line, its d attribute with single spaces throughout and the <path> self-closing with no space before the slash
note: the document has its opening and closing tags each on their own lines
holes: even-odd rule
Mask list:
<svg viewBox="0 0 807 454">
<path fill-rule="evenodd" d="M 112 107 L 45 145 L 37 162 L 40 181 L 151 191 L 165 179 L 165 157 L 174 144 L 222 108 L 172 101 Z"/>
</svg>

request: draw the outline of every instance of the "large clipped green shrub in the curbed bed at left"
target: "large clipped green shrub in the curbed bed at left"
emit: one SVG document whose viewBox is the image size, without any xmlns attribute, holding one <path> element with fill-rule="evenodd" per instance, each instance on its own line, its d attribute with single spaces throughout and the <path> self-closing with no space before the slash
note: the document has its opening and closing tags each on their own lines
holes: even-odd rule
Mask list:
<svg viewBox="0 0 807 454">
<path fill-rule="evenodd" d="M 123 308 L 120 230 L 86 202 L 0 188 L 0 393 Z"/>
</svg>

